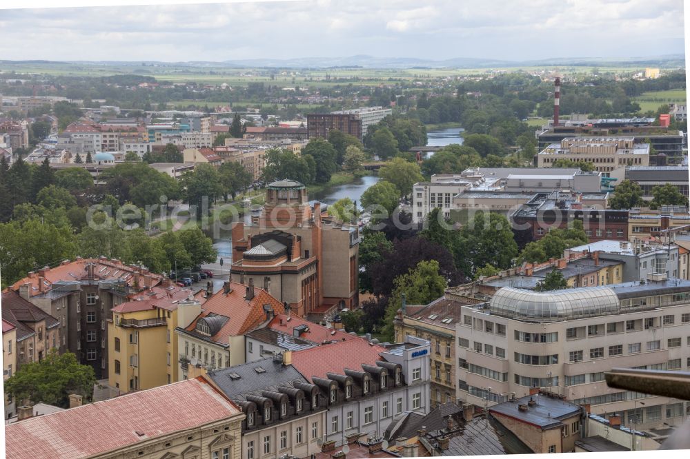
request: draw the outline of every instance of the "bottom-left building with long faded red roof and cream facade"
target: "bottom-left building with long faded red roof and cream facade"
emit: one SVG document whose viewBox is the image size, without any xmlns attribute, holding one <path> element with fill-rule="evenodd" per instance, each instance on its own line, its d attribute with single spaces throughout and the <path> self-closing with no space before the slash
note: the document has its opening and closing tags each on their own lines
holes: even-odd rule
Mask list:
<svg viewBox="0 0 690 459">
<path fill-rule="evenodd" d="M 6 425 L 6 453 L 12 459 L 241 459 L 244 417 L 197 378 Z"/>
</svg>

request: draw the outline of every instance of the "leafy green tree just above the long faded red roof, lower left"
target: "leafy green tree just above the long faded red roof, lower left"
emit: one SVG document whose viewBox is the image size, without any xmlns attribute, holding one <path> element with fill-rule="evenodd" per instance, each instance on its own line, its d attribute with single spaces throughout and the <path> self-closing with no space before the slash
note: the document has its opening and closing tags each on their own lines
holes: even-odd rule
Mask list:
<svg viewBox="0 0 690 459">
<path fill-rule="evenodd" d="M 5 381 L 5 390 L 16 400 L 68 408 L 70 394 L 79 394 L 90 401 L 95 383 L 91 365 L 80 365 L 75 354 L 59 355 L 52 348 L 43 360 L 22 365 Z"/>
</svg>

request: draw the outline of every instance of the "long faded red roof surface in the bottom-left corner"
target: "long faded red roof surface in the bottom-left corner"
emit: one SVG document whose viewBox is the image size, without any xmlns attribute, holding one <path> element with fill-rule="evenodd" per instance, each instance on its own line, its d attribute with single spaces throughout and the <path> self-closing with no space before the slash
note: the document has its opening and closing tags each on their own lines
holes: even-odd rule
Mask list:
<svg viewBox="0 0 690 459">
<path fill-rule="evenodd" d="M 12 459 L 90 457 L 239 414 L 204 378 L 184 380 L 6 425 L 6 453 Z"/>
</svg>

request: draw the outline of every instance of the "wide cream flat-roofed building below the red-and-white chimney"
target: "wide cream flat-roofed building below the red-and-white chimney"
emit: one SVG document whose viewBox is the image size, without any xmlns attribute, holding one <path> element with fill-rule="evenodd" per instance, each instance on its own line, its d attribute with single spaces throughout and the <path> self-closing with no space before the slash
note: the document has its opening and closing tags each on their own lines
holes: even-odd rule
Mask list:
<svg viewBox="0 0 690 459">
<path fill-rule="evenodd" d="M 649 143 L 635 143 L 633 137 L 569 137 L 540 151 L 537 166 L 552 167 L 559 159 L 591 163 L 609 176 L 618 167 L 649 166 Z"/>
</svg>

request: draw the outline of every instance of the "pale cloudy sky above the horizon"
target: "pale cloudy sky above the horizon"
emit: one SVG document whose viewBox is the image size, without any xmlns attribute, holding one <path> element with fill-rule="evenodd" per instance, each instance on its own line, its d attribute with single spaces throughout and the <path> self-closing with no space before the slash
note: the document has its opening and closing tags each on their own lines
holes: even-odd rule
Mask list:
<svg viewBox="0 0 690 459">
<path fill-rule="evenodd" d="M 0 10 L 0 59 L 12 60 L 639 57 L 683 53 L 683 37 L 682 0 L 288 0 Z"/>
</svg>

